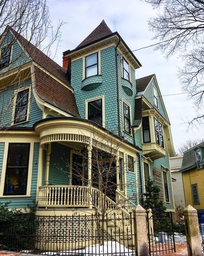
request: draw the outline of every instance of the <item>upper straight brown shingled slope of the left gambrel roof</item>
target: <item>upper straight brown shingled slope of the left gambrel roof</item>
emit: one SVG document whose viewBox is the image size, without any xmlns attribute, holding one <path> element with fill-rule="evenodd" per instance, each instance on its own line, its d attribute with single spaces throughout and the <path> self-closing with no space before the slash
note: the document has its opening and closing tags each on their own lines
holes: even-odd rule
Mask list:
<svg viewBox="0 0 204 256">
<path fill-rule="evenodd" d="M 51 74 L 53 74 L 59 80 L 61 80 L 63 83 L 65 83 L 71 87 L 71 85 L 68 83 L 68 78 L 67 78 L 65 69 L 63 69 L 61 66 L 59 66 L 55 61 L 53 61 L 51 58 L 49 58 L 46 54 L 44 54 L 42 51 L 40 51 L 33 44 L 28 42 L 28 40 L 26 40 L 22 35 L 20 35 L 14 29 L 10 28 L 10 30 L 13 32 L 13 34 L 16 36 L 16 38 L 22 44 L 25 51 L 28 53 L 28 55 L 31 57 L 31 59 L 33 61 L 35 61 L 37 64 L 39 64 L 41 67 L 43 67 L 47 71 L 49 71 Z"/>
</svg>

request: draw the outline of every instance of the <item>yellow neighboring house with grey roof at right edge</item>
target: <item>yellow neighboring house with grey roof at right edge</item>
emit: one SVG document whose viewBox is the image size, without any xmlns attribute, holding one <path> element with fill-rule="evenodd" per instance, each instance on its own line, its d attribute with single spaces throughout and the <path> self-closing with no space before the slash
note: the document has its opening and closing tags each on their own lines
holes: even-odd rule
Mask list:
<svg viewBox="0 0 204 256">
<path fill-rule="evenodd" d="M 204 142 L 184 152 L 180 172 L 185 204 L 204 214 Z"/>
</svg>

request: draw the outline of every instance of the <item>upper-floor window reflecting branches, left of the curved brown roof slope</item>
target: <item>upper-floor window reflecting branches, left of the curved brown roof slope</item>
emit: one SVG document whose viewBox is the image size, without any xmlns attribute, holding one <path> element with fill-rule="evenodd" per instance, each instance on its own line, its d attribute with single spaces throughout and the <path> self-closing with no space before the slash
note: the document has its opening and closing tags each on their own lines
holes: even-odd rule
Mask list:
<svg viewBox="0 0 204 256">
<path fill-rule="evenodd" d="M 14 124 L 27 120 L 28 117 L 29 89 L 21 90 L 17 93 L 15 101 Z"/>
</svg>

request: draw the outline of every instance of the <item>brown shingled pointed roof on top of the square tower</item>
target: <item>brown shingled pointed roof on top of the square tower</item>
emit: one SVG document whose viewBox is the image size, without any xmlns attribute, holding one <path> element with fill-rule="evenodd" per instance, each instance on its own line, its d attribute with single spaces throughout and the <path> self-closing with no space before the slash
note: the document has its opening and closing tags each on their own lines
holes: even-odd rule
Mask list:
<svg viewBox="0 0 204 256">
<path fill-rule="evenodd" d="M 102 22 L 99 24 L 99 26 L 94 29 L 90 35 L 88 35 L 77 47 L 82 47 L 83 45 L 90 44 L 91 42 L 94 42 L 100 38 L 103 38 L 107 35 L 111 35 L 112 31 L 111 29 L 108 28 L 107 24 L 105 23 L 104 19 Z"/>
</svg>

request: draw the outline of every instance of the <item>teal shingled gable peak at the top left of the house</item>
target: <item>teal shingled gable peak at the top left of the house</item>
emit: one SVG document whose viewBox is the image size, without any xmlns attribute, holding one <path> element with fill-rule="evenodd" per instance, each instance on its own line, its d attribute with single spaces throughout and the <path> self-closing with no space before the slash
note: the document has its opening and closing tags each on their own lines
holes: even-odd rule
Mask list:
<svg viewBox="0 0 204 256">
<path fill-rule="evenodd" d="M 10 64 L 8 67 L 1 69 L 0 74 L 3 74 L 8 70 L 19 67 L 22 64 L 25 64 L 31 61 L 31 58 L 28 57 L 28 55 L 25 53 L 25 51 L 21 47 L 19 41 L 14 39 L 14 36 L 10 31 L 8 31 L 5 36 L 2 36 L 0 40 L 0 48 L 3 48 L 4 46 L 8 45 L 12 41 L 13 41 L 13 44 L 12 44 L 11 54 L 10 54 Z"/>
</svg>

